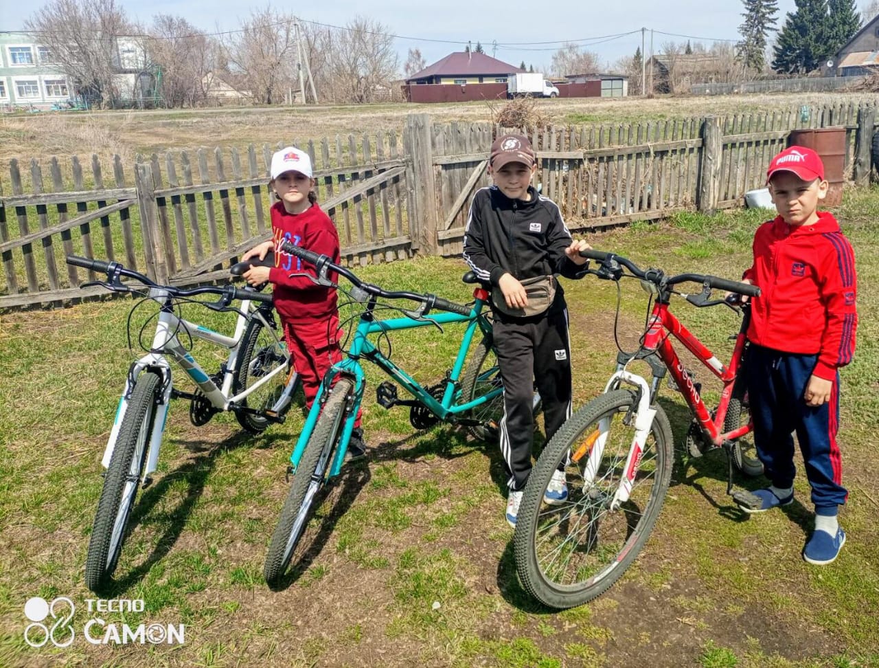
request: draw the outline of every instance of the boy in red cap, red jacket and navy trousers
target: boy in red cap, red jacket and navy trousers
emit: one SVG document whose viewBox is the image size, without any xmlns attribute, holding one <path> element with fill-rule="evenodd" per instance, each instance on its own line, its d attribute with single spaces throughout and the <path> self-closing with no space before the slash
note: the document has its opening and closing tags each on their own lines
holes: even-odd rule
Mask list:
<svg viewBox="0 0 879 668">
<path fill-rule="evenodd" d="M 815 504 L 815 531 L 803 547 L 814 564 L 836 559 L 846 542 L 837 510 L 846 503 L 836 433 L 839 368 L 852 361 L 857 291 L 854 253 L 832 214 L 818 211 L 827 194 L 814 150 L 791 146 L 766 173 L 778 217 L 754 235 L 745 282 L 754 297 L 745 358 L 754 443 L 772 485 L 754 494 L 763 512 L 794 501 L 796 431 Z"/>
</svg>

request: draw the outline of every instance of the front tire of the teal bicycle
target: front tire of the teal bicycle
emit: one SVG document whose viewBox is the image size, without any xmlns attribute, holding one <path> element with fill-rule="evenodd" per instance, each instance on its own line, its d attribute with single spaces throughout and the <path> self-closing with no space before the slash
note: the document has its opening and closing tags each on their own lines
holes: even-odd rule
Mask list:
<svg viewBox="0 0 879 668">
<path fill-rule="evenodd" d="M 315 496 L 326 481 L 327 468 L 331 464 L 332 453 L 336 450 L 345 418 L 345 405 L 353 388 L 351 378 L 340 378 L 333 385 L 330 398 L 323 405 L 315 430 L 302 453 L 265 555 L 263 576 L 270 587 L 278 586 L 287 572 L 296 546 L 308 524 Z"/>
</svg>

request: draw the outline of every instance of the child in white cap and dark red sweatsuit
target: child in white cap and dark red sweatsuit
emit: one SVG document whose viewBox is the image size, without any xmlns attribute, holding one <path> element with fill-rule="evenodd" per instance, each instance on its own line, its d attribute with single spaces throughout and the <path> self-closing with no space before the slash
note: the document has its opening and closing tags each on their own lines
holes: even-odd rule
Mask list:
<svg viewBox="0 0 879 668">
<path fill-rule="evenodd" d="M 285 241 L 340 261 L 338 232 L 330 217 L 317 205 L 309 154 L 288 146 L 272 155 L 269 187 L 280 200 L 272 206 L 272 239 L 243 254 L 242 260 L 274 250 L 275 266 L 251 267 L 244 279 L 251 285 L 270 281 L 274 307 L 280 316 L 293 365 L 302 379 L 307 407 L 314 402 L 321 380 L 331 365 L 342 360 L 338 345 L 336 290 L 309 278 L 315 268 L 281 250 Z M 352 431 L 348 452 L 364 454 L 360 415 Z"/>
</svg>

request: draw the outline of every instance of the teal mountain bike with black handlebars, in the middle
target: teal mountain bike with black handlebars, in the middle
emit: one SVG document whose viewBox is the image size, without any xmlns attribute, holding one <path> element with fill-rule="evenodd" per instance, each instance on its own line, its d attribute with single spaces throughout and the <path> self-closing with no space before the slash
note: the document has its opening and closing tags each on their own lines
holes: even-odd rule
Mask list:
<svg viewBox="0 0 879 668">
<path fill-rule="evenodd" d="M 377 365 L 412 395 L 412 400 L 399 399 L 396 385 L 389 381 L 376 389 L 376 399 L 382 407 L 410 407 L 410 422 L 416 429 L 450 422 L 466 426 L 477 438 L 494 441 L 498 438 L 498 424 L 504 415 L 504 388 L 497 357 L 492 350 L 489 312 L 485 309 L 489 295 L 478 285 L 476 275 L 472 272 L 464 275 L 464 283 L 476 284 L 475 301 L 472 305 L 461 305 L 431 294 L 382 290 L 377 285 L 360 281 L 351 271 L 334 264 L 325 255 L 289 243 L 282 248 L 315 266 L 316 283 L 338 287 L 328 275 L 344 276 L 353 286 L 348 292 L 349 297 L 363 304 L 364 310 L 345 359 L 333 365 L 323 378 L 290 456 L 288 473 L 293 473 L 293 484 L 265 557 L 265 581 L 272 587 L 280 585 L 292 561 L 309 524 L 310 513 L 314 510 L 312 506 L 316 505 L 317 492 L 339 473 L 345 460 L 365 391 L 362 361 Z M 392 307 L 404 317 L 381 320 L 376 318 L 376 311 L 388 306 L 379 304 L 380 298 L 408 300 L 416 306 L 411 311 Z M 413 327 L 438 327 L 441 332 L 442 325 L 452 323 L 462 323 L 466 327 L 454 365 L 447 372 L 447 378 L 437 385 L 421 385 L 369 339 L 370 336 L 381 337 Z M 468 360 L 470 345 L 477 334 L 481 339 Z M 534 393 L 535 412 L 539 405 L 540 397 Z"/>
</svg>

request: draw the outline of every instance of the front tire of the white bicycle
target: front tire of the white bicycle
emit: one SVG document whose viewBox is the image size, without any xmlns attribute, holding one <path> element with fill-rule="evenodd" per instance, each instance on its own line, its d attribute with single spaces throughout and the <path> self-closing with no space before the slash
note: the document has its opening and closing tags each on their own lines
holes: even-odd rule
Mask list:
<svg viewBox="0 0 879 668">
<path fill-rule="evenodd" d="M 113 456 L 107 466 L 85 559 L 85 585 L 95 593 L 109 583 L 119 562 L 155 427 L 160 384 L 161 378 L 149 371 L 134 382 Z"/>
</svg>

